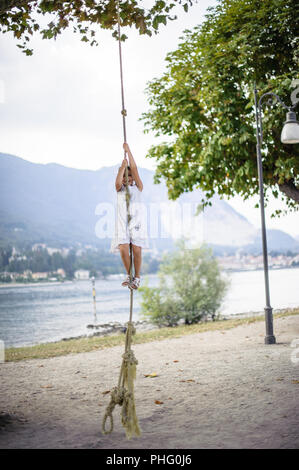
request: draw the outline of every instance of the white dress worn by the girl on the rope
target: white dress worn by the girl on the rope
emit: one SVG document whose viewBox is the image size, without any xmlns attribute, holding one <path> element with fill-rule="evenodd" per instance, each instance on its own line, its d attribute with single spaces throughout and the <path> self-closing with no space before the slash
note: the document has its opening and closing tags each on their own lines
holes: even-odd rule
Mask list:
<svg viewBox="0 0 299 470">
<path fill-rule="evenodd" d="M 115 234 L 111 241 L 112 253 L 117 253 L 119 245 L 123 243 L 132 243 L 141 248 L 148 248 L 147 237 L 147 209 L 141 201 L 141 194 L 136 184 L 129 186 L 130 204 L 129 213 L 131 216 L 128 224 L 126 187 L 123 185 L 120 191 L 117 191 Z"/>
</svg>

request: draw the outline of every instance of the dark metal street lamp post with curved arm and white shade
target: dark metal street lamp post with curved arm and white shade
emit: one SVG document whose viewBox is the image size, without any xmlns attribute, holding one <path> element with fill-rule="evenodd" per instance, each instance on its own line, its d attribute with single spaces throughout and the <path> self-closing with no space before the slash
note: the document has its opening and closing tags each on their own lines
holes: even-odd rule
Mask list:
<svg viewBox="0 0 299 470">
<path fill-rule="evenodd" d="M 260 193 L 260 207 L 261 207 L 261 227 L 262 227 L 262 242 L 263 242 L 263 261 L 264 261 L 264 279 L 265 279 L 265 294 L 266 294 L 266 307 L 265 307 L 265 322 L 266 322 L 266 336 L 265 344 L 275 344 L 275 336 L 273 332 L 273 314 L 270 304 L 270 290 L 269 290 L 269 274 L 268 274 L 268 251 L 267 251 L 267 235 L 265 223 L 265 206 L 264 206 L 264 188 L 263 188 L 263 166 L 261 145 L 263 143 L 263 127 L 262 127 L 262 104 L 263 99 L 268 97 L 268 102 L 272 103 L 272 98 L 275 98 L 285 109 L 287 109 L 287 120 L 281 133 L 281 141 L 284 144 L 297 144 L 299 143 L 299 123 L 296 120 L 294 107 L 286 106 L 283 101 L 275 93 L 264 93 L 258 100 L 257 90 L 254 87 L 255 99 L 255 116 L 256 116 L 256 155 L 257 155 L 257 168 L 259 179 L 259 193 Z M 270 98 L 270 99 L 269 99 Z"/>
</svg>

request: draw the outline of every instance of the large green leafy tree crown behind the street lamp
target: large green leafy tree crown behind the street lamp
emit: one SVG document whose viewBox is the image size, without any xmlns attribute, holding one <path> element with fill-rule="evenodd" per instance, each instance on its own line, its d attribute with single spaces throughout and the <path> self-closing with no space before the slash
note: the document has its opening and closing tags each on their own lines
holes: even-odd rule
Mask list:
<svg viewBox="0 0 299 470">
<path fill-rule="evenodd" d="M 244 199 L 258 193 L 254 83 L 260 95 L 275 92 L 292 104 L 299 77 L 295 3 L 220 0 L 202 25 L 185 31 L 164 75 L 148 84 L 145 129 L 171 136 L 148 156 L 157 160 L 155 181 L 166 180 L 170 198 L 199 187 L 204 207 L 216 191 Z M 298 210 L 299 147 L 280 142 L 285 113 L 279 104 L 263 107 L 265 199 L 272 192 Z"/>
</svg>

